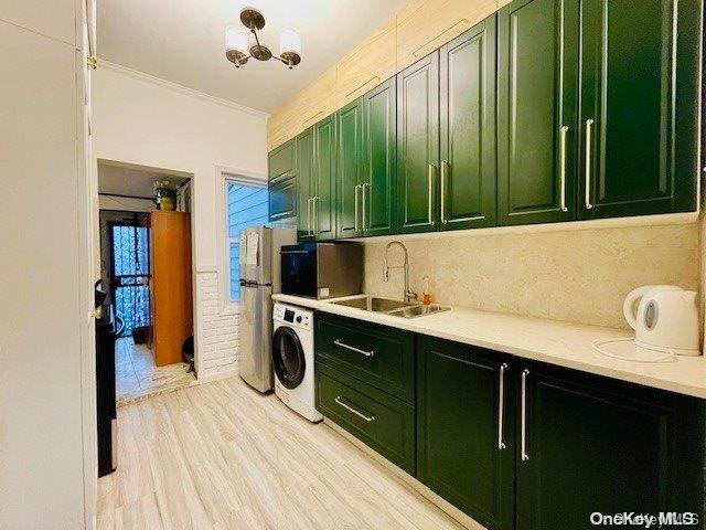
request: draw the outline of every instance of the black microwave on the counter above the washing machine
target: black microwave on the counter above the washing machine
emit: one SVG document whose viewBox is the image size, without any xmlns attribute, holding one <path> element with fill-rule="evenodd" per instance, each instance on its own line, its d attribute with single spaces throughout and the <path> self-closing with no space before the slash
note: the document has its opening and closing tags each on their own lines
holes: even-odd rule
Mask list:
<svg viewBox="0 0 706 530">
<path fill-rule="evenodd" d="M 285 295 L 325 299 L 363 290 L 359 243 L 300 243 L 282 246 L 279 254 Z"/>
</svg>

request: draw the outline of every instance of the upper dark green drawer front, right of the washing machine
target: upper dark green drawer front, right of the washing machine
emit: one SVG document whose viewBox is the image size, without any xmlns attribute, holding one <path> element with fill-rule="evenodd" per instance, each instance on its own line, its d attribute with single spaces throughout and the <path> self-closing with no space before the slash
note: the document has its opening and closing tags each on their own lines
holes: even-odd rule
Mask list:
<svg viewBox="0 0 706 530">
<path fill-rule="evenodd" d="M 327 315 L 317 318 L 314 343 L 317 361 L 414 402 L 413 333 Z"/>
</svg>

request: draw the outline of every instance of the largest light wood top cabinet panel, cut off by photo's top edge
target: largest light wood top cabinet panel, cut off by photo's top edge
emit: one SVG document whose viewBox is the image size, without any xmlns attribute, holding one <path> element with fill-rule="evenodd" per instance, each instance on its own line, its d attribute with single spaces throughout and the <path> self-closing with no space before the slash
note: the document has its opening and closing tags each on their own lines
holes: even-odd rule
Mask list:
<svg viewBox="0 0 706 530">
<path fill-rule="evenodd" d="M 498 9 L 498 0 L 411 0 L 397 13 L 397 72 Z"/>
</svg>

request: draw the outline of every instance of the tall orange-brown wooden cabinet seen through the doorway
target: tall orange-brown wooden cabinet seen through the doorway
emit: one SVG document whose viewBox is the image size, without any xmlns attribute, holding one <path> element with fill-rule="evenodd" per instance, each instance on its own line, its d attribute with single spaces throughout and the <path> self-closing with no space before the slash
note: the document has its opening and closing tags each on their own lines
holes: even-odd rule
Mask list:
<svg viewBox="0 0 706 530">
<path fill-rule="evenodd" d="M 193 335 L 191 215 L 157 211 L 149 223 L 152 353 L 162 367 L 181 362 L 181 347 Z"/>
</svg>

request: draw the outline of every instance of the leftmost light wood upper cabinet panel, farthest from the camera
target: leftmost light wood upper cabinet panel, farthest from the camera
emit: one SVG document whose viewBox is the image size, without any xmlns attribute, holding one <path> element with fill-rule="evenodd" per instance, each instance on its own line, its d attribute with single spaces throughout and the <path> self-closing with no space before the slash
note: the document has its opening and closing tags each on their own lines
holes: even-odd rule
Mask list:
<svg viewBox="0 0 706 530">
<path fill-rule="evenodd" d="M 267 121 L 267 149 L 272 150 L 335 110 L 335 66 L 272 114 Z"/>
</svg>

